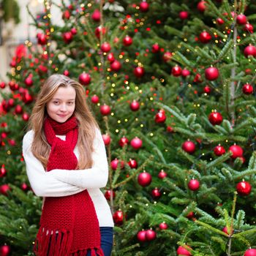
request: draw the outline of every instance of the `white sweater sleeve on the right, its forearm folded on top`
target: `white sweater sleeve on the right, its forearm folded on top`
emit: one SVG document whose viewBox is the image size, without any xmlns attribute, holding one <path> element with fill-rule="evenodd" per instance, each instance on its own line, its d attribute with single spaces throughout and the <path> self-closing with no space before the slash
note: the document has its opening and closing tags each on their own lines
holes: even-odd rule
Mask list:
<svg viewBox="0 0 256 256">
<path fill-rule="evenodd" d="M 105 187 L 108 182 L 108 160 L 105 144 L 99 129 L 96 129 L 94 138 L 93 165 L 84 170 L 51 170 L 53 176 L 59 181 L 67 182 L 85 189 Z"/>
</svg>

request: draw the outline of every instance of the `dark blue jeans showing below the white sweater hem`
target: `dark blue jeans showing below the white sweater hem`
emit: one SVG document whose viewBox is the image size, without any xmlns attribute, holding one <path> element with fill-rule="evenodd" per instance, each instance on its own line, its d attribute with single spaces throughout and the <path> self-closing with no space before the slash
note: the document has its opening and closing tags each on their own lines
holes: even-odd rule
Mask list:
<svg viewBox="0 0 256 256">
<path fill-rule="evenodd" d="M 104 252 L 104 256 L 110 256 L 113 246 L 113 227 L 99 227 L 101 237 L 101 247 Z M 87 256 L 91 256 L 91 252 L 87 253 Z"/>
</svg>

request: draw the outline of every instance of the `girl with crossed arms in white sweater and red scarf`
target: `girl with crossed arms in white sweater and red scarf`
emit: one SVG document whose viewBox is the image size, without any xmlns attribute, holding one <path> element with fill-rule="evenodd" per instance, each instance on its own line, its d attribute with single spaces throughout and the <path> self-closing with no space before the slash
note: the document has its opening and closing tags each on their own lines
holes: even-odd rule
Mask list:
<svg viewBox="0 0 256 256">
<path fill-rule="evenodd" d="M 113 219 L 100 188 L 108 161 L 80 83 L 51 75 L 23 138 L 31 188 L 43 197 L 34 252 L 40 256 L 110 256 Z"/>
</svg>

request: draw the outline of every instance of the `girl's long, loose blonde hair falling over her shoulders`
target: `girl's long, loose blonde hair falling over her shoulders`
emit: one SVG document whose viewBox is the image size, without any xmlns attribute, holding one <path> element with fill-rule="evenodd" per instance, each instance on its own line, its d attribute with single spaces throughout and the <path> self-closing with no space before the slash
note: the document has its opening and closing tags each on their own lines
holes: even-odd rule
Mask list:
<svg viewBox="0 0 256 256">
<path fill-rule="evenodd" d="M 41 91 L 37 96 L 34 108 L 29 118 L 29 129 L 34 131 L 34 140 L 31 151 L 44 167 L 47 166 L 50 154 L 50 145 L 45 138 L 43 124 L 48 116 L 46 104 L 50 102 L 59 87 L 72 86 L 75 89 L 75 110 L 74 115 L 78 120 L 78 169 L 91 167 L 91 154 L 94 150 L 93 141 L 95 128 L 98 128 L 97 121 L 89 110 L 86 103 L 86 92 L 80 83 L 72 80 L 65 75 L 54 74 L 45 80 Z"/>
</svg>

